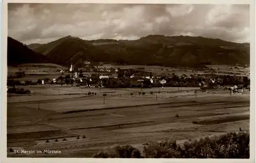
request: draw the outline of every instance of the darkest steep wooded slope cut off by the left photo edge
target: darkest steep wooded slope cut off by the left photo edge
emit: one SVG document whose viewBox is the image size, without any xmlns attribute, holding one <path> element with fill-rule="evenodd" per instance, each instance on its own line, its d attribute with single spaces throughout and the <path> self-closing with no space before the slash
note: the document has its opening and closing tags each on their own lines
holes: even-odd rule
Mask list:
<svg viewBox="0 0 256 163">
<path fill-rule="evenodd" d="M 23 43 L 7 38 L 7 65 L 18 65 L 23 63 L 47 63 L 49 59 L 28 48 Z"/>
</svg>

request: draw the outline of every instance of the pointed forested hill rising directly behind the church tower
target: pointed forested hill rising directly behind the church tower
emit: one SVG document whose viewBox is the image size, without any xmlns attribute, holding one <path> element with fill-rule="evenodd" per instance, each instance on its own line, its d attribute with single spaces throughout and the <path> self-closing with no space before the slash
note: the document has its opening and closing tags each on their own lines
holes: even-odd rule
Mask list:
<svg viewBox="0 0 256 163">
<path fill-rule="evenodd" d="M 102 62 L 109 61 L 109 53 L 84 41 L 80 38 L 67 36 L 48 44 L 43 44 L 35 49 L 55 64 L 69 66 L 71 63 L 77 67 L 83 66 L 84 61 Z"/>
</svg>

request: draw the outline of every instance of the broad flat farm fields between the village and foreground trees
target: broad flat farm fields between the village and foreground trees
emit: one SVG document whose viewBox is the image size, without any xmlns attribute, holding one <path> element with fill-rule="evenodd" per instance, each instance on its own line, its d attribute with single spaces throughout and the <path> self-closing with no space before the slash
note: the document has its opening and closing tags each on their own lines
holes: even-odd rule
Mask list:
<svg viewBox="0 0 256 163">
<path fill-rule="evenodd" d="M 108 94 L 103 103 L 102 92 L 96 88 L 54 86 L 32 89 L 38 94 L 8 98 L 8 149 L 49 149 L 61 153 L 8 152 L 8 157 L 92 157 L 95 152 L 114 144 L 131 144 L 142 149 L 143 143 L 166 137 L 182 143 L 188 139 L 239 131 L 239 127 L 243 131 L 249 130 L 249 92 L 229 95 L 228 91 L 219 90 L 208 94 L 199 92 L 195 96 L 193 88 L 182 88 L 186 90 L 177 93 L 171 93 L 177 88 L 164 88 L 169 90 L 157 94 L 156 98 L 155 93 L 123 95 L 136 92 L 136 89 L 102 89 L 100 91 Z M 63 95 L 56 95 L 54 89 L 60 89 Z M 98 92 L 90 97 L 74 95 L 80 89 Z M 65 95 L 65 92 L 74 94 Z M 59 98 L 62 96 L 66 99 Z M 25 98 L 31 98 L 31 101 L 26 102 Z M 38 100 L 41 100 L 39 110 Z M 78 135 L 80 139 L 76 139 Z M 86 138 L 83 139 L 83 135 Z M 64 138 L 66 141 L 62 141 Z"/>
</svg>

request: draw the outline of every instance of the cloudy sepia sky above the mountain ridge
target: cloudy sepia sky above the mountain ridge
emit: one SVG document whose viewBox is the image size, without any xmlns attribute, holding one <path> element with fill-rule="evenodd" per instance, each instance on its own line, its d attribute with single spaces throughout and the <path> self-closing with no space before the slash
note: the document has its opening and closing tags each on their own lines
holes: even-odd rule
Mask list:
<svg viewBox="0 0 256 163">
<path fill-rule="evenodd" d="M 26 44 L 71 35 L 129 39 L 202 36 L 250 42 L 249 5 L 8 4 L 8 36 Z"/>
</svg>

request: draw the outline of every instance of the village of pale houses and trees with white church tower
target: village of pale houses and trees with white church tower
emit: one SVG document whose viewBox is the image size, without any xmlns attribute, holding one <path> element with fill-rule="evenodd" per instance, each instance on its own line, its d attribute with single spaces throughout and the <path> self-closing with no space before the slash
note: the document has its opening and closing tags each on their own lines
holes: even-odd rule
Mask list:
<svg viewBox="0 0 256 163">
<path fill-rule="evenodd" d="M 90 64 L 90 63 L 89 63 Z M 89 66 L 93 67 L 93 66 Z M 163 69 L 162 69 L 163 70 Z M 59 76 L 56 78 L 40 77 L 37 80 L 14 80 L 9 79 L 7 86 L 27 86 L 27 85 L 70 85 L 84 86 L 87 88 L 162 88 L 162 87 L 200 87 L 202 90 L 208 89 L 232 89 L 232 93 L 239 93 L 250 88 L 250 79 L 244 75 L 218 75 L 212 68 L 196 70 L 185 70 L 191 72 L 190 75 L 177 75 L 173 73 L 154 73 L 139 69 L 120 69 L 120 68 L 75 68 L 71 64 L 70 68 L 56 70 Z M 89 71 L 89 72 L 88 72 Z M 90 72 L 91 71 L 91 72 Z M 208 73 L 205 73 L 208 72 Z M 194 73 L 194 74 L 193 74 Z M 21 76 L 26 76 L 25 72 L 19 72 Z M 18 74 L 18 75 L 19 75 Z M 38 73 L 37 73 L 38 74 Z M 29 75 L 29 74 L 28 74 Z M 30 74 L 33 75 L 33 74 Z M 44 76 L 44 74 L 41 74 Z M 57 76 L 57 74 L 55 75 Z M 13 93 L 13 89 L 8 89 Z M 15 91 L 14 91 L 15 92 Z M 29 91 L 16 91 L 27 94 Z M 231 92 L 230 92 L 231 93 Z"/>
</svg>

